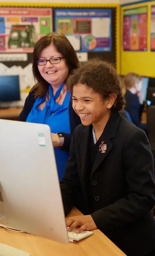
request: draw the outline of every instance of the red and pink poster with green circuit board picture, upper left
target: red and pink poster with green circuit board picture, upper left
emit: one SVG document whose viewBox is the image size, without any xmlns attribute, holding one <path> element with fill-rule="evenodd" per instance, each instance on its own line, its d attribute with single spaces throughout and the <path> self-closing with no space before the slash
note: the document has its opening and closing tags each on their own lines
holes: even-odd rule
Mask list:
<svg viewBox="0 0 155 256">
<path fill-rule="evenodd" d="M 0 52 L 33 52 L 51 31 L 51 8 L 0 8 Z"/>
</svg>

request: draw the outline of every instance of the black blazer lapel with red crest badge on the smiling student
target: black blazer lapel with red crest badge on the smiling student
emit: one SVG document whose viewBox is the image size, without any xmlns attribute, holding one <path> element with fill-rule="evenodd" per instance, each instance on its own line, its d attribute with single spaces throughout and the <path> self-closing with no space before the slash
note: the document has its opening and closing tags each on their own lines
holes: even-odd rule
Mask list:
<svg viewBox="0 0 155 256">
<path fill-rule="evenodd" d="M 110 140 L 115 137 L 119 120 L 120 120 L 120 113 L 113 111 L 99 141 L 97 141 L 99 142 L 99 147 L 97 150 L 91 175 L 97 170 L 99 165 L 105 160 L 105 157 L 107 157 L 107 155 L 111 151 L 113 145 Z"/>
</svg>

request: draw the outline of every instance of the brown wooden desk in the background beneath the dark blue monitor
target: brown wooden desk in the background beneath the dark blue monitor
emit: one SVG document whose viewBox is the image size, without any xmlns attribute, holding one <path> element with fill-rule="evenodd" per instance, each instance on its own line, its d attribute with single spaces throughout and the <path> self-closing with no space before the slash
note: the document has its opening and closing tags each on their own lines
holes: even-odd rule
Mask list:
<svg viewBox="0 0 155 256">
<path fill-rule="evenodd" d="M 19 115 L 23 108 L 0 109 L 0 119 L 19 120 Z"/>
</svg>

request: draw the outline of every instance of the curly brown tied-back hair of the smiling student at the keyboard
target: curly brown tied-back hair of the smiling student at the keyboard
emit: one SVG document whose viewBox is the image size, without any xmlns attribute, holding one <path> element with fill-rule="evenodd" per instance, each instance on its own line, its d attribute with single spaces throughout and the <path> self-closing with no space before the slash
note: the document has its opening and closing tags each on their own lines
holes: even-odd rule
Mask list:
<svg viewBox="0 0 155 256">
<path fill-rule="evenodd" d="M 111 93 L 116 93 L 117 98 L 112 109 L 119 111 L 125 107 L 120 77 L 112 64 L 106 61 L 91 59 L 79 64 L 67 79 L 67 86 L 71 93 L 76 84 L 84 84 L 92 88 L 94 92 L 101 94 L 103 99 L 107 99 Z"/>
</svg>

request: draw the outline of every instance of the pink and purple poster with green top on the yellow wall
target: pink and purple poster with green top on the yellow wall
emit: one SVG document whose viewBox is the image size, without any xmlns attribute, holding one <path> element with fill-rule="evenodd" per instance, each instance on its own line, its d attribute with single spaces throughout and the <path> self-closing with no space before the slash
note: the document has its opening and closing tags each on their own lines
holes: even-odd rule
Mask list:
<svg viewBox="0 0 155 256">
<path fill-rule="evenodd" d="M 124 10 L 124 51 L 147 51 L 147 6 Z"/>
</svg>

